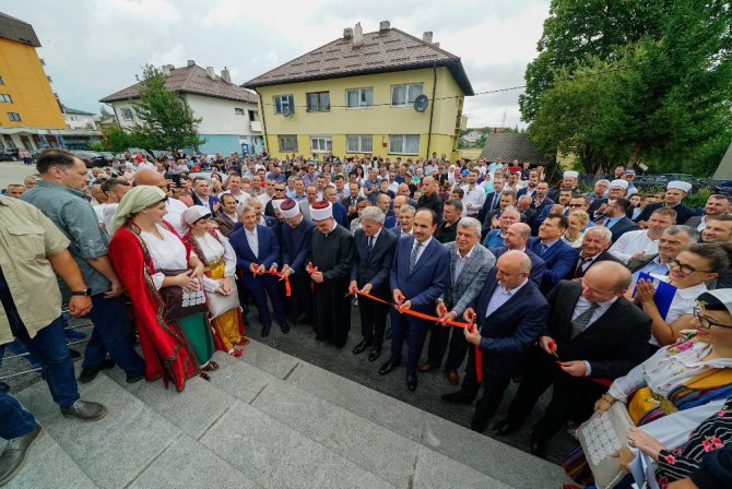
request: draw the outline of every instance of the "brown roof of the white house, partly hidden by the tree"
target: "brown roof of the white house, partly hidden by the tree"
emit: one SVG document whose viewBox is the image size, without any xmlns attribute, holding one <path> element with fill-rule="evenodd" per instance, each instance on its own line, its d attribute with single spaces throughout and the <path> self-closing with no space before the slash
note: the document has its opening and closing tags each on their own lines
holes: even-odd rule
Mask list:
<svg viewBox="0 0 732 489">
<path fill-rule="evenodd" d="M 165 86 L 178 93 L 205 95 L 251 104 L 257 104 L 259 100 L 257 94 L 241 88 L 235 83 L 226 82 L 219 75 L 215 75 L 215 79 L 211 80 L 209 73 L 203 68 L 193 64 L 191 67 L 174 68 L 170 70 L 170 74 L 165 79 Z M 109 103 L 134 99 L 139 96 L 139 90 L 140 83 L 135 83 L 111 95 L 107 95 L 99 102 Z"/>
</svg>

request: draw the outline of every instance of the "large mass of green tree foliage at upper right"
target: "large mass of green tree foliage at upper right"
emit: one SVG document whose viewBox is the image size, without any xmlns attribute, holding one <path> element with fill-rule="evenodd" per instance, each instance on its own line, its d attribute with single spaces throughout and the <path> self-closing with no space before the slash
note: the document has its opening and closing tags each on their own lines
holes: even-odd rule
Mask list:
<svg viewBox="0 0 732 489">
<path fill-rule="evenodd" d="M 552 15 L 520 100 L 541 150 L 572 153 L 588 172 L 719 162 L 732 131 L 730 2 L 555 0 Z"/>
</svg>

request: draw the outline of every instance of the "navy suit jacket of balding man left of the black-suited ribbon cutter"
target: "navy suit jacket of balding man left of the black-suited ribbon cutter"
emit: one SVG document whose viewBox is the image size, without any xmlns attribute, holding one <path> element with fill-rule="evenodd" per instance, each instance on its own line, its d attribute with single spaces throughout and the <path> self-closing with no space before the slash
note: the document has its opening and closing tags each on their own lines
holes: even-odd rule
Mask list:
<svg viewBox="0 0 732 489">
<path fill-rule="evenodd" d="M 475 313 L 481 331 L 483 368 L 503 377 L 523 373 L 528 351 L 542 334 L 550 307 L 541 291 L 528 281 L 487 318 L 485 313 L 498 286 L 496 269 L 491 270 L 476 301 Z"/>
</svg>

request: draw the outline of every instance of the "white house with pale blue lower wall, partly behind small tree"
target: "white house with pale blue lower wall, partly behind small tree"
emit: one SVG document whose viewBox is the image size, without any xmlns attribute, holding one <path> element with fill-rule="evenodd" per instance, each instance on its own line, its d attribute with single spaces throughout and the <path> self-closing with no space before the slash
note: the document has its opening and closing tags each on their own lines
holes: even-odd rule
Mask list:
<svg viewBox="0 0 732 489">
<path fill-rule="evenodd" d="M 193 150 L 222 155 L 263 150 L 257 95 L 232 83 L 228 70 L 216 75 L 213 68 L 203 69 L 189 60 L 182 68 L 166 64 L 162 72 L 166 86 L 202 119 L 199 135 L 205 142 Z M 135 111 L 138 90 L 139 84 L 134 84 L 101 100 L 113 107 L 125 129 L 142 122 Z"/>
</svg>

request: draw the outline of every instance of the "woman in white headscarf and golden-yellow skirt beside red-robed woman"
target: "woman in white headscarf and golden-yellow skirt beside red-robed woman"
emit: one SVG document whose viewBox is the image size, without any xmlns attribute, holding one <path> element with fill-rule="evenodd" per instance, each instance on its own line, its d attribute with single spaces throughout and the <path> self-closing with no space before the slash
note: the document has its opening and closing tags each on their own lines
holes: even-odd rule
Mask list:
<svg viewBox="0 0 732 489">
<path fill-rule="evenodd" d="M 247 345 L 249 339 L 244 337 L 244 319 L 234 282 L 236 253 L 228 239 L 212 228 L 208 207 L 188 207 L 181 219 L 181 226 L 188 229 L 184 241 L 192 247 L 205 266 L 203 288 L 209 300 L 209 319 L 216 347 L 238 357 L 244 350 L 234 346 Z"/>
</svg>

